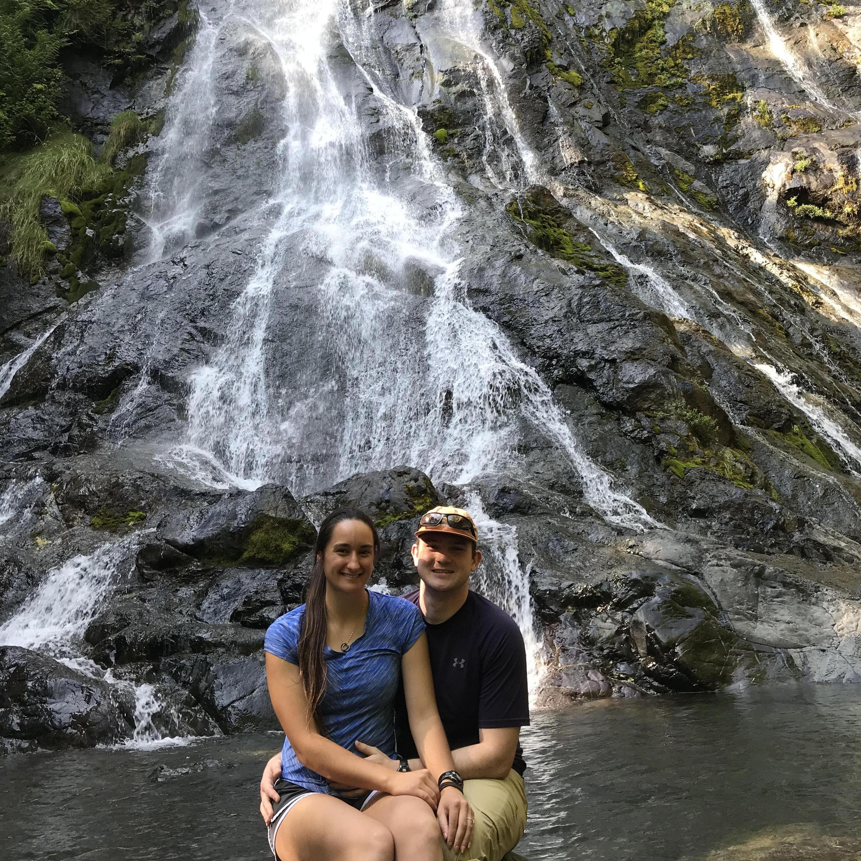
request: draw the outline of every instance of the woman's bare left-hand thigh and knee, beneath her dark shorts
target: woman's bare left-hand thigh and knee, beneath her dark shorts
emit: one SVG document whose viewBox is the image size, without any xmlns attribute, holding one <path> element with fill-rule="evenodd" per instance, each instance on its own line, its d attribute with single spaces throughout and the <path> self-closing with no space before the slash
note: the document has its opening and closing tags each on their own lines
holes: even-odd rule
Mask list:
<svg viewBox="0 0 861 861">
<path fill-rule="evenodd" d="M 275 848 L 281 861 L 394 861 L 387 827 L 321 793 L 300 798 L 284 815 Z"/>
</svg>

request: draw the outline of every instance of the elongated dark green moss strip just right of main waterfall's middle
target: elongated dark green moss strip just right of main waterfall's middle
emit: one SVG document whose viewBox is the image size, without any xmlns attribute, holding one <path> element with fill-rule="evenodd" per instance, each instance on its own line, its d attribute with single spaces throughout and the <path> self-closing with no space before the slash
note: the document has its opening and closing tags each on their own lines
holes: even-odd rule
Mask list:
<svg viewBox="0 0 861 861">
<path fill-rule="evenodd" d="M 533 191 L 521 200 L 515 199 L 505 207 L 505 212 L 526 226 L 526 238 L 542 251 L 588 269 L 619 287 L 628 283 L 628 273 L 621 266 L 598 257 L 591 245 L 578 242 L 572 232 L 561 226 L 560 221 L 566 215 L 549 192 L 542 195 Z"/>
</svg>

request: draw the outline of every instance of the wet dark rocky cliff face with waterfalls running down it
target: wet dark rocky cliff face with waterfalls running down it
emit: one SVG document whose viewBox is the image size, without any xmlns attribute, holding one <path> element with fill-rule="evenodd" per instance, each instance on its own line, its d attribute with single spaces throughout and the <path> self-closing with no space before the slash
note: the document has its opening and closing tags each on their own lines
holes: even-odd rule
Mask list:
<svg viewBox="0 0 861 861">
<path fill-rule="evenodd" d="M 344 500 L 395 590 L 480 511 L 549 701 L 858 680 L 861 17 L 329 6 L 177 31 L 121 257 L 0 269 L 7 746 L 271 725 Z"/>
</svg>

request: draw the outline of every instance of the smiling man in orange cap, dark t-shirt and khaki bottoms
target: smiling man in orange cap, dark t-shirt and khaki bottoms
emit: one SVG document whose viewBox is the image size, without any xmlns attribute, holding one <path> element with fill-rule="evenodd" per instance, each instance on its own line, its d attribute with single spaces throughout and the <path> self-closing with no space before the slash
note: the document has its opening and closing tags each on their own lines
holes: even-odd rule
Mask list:
<svg viewBox="0 0 861 861">
<path fill-rule="evenodd" d="M 530 722 L 526 650 L 517 624 L 486 598 L 469 591 L 481 562 L 478 529 L 467 511 L 438 506 L 419 522 L 412 561 L 421 585 L 406 595 L 427 625 L 437 708 L 464 795 L 474 808 L 472 846 L 447 861 L 500 861 L 526 827 L 520 728 Z M 395 711 L 400 759 L 356 742 L 359 753 L 390 768 L 421 768 L 403 698 Z M 260 782 L 260 812 L 268 821 L 278 800 L 273 784 L 281 758 L 269 760 Z"/>
</svg>

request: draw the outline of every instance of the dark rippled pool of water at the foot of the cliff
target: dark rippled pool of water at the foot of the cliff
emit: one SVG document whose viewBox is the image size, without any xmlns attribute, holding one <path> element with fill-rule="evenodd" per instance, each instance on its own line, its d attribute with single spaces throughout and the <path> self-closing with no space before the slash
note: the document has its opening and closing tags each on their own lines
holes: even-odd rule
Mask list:
<svg viewBox="0 0 861 861">
<path fill-rule="evenodd" d="M 524 732 L 529 861 L 861 858 L 861 685 L 599 701 Z M 276 734 L 0 759 L 0 857 L 268 858 Z"/>
</svg>

